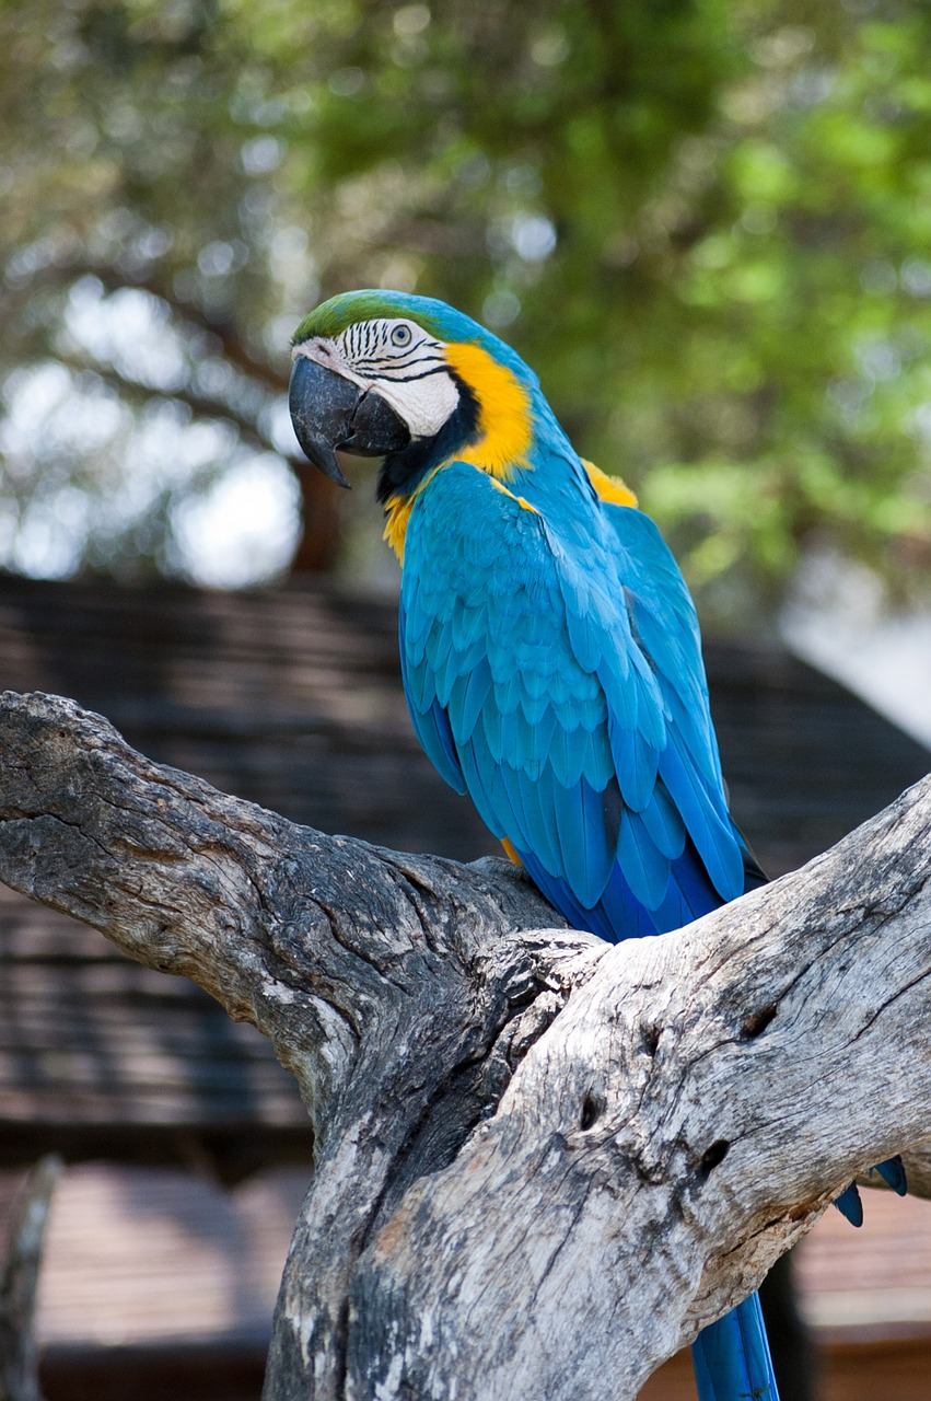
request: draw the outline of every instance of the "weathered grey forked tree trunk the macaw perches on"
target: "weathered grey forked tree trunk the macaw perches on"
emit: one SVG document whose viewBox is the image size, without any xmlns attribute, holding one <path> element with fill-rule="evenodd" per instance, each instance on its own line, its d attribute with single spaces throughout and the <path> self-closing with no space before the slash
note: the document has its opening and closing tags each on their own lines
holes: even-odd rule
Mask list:
<svg viewBox="0 0 931 1401">
<path fill-rule="evenodd" d="M 608 947 L 505 862 L 298 828 L 0 700 L 0 878 L 273 1041 L 316 1136 L 267 1401 L 634 1397 L 854 1173 L 927 1191 L 931 780 Z"/>
</svg>

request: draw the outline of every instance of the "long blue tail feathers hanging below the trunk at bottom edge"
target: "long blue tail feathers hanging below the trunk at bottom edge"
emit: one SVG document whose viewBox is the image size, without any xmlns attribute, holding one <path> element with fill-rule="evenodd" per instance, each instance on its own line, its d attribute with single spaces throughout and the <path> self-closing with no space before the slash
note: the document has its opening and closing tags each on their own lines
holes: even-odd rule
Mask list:
<svg viewBox="0 0 931 1401">
<path fill-rule="evenodd" d="M 699 1401 L 778 1401 L 759 1295 L 701 1330 L 692 1365 Z"/>
</svg>

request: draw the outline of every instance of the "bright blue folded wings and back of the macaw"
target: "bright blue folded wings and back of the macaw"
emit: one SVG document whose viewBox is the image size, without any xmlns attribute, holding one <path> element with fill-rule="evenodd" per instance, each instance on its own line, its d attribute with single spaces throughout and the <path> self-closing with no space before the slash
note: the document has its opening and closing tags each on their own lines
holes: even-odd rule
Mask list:
<svg viewBox="0 0 931 1401">
<path fill-rule="evenodd" d="M 402 665 L 444 778 L 568 918 L 617 940 L 741 894 L 743 852 L 682 576 L 640 511 L 589 511 L 570 549 L 486 474 L 444 468 L 407 528 Z"/>
</svg>

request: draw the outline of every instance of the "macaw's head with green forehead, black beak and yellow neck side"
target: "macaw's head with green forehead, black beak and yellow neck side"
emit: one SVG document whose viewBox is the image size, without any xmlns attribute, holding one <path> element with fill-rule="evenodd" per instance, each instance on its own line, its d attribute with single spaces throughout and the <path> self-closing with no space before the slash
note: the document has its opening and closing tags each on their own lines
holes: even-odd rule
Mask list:
<svg viewBox="0 0 931 1401">
<path fill-rule="evenodd" d="M 507 478 L 526 457 L 538 388 L 510 346 L 428 297 L 343 293 L 305 317 L 293 343 L 298 443 L 340 486 L 337 450 L 381 457 L 389 507 L 454 457 Z"/>
</svg>

